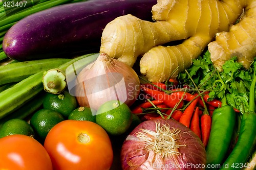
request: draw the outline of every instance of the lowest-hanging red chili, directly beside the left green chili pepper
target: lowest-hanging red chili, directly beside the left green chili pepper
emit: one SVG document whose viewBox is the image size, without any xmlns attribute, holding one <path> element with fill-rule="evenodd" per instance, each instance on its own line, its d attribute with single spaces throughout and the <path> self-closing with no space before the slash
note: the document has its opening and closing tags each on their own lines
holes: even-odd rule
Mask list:
<svg viewBox="0 0 256 170">
<path fill-rule="evenodd" d="M 204 147 L 207 146 L 211 129 L 211 117 L 208 113 L 203 113 L 201 116 L 201 131 L 202 131 L 202 142 Z"/>
</svg>

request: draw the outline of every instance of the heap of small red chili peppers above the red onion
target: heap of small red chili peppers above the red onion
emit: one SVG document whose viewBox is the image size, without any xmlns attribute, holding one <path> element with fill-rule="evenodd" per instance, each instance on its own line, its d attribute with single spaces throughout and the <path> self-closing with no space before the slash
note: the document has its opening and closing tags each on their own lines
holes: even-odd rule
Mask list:
<svg viewBox="0 0 256 170">
<path fill-rule="evenodd" d="M 140 104 L 132 108 L 132 113 L 139 115 L 142 121 L 175 119 L 197 134 L 206 147 L 211 129 L 212 112 L 220 106 L 221 102 L 208 101 L 208 94 L 204 94 L 205 90 L 199 93 L 195 93 L 194 90 L 187 87 L 181 88 L 178 84 L 170 86 L 163 83 L 142 84 L 140 95 L 144 99 L 140 97 Z"/>
</svg>

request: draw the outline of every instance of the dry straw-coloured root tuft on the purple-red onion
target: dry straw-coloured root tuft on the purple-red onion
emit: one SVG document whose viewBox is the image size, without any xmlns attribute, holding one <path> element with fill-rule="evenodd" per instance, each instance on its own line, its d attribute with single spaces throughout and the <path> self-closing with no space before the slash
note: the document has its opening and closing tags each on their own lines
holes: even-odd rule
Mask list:
<svg viewBox="0 0 256 170">
<path fill-rule="evenodd" d="M 176 140 L 179 138 L 180 130 L 170 128 L 160 123 L 156 123 L 156 131 L 148 129 L 142 129 L 137 133 L 137 137 L 145 142 L 145 150 L 153 151 L 156 154 L 160 154 L 162 158 L 168 155 L 180 155 L 178 148 L 185 145 L 178 145 Z"/>
</svg>

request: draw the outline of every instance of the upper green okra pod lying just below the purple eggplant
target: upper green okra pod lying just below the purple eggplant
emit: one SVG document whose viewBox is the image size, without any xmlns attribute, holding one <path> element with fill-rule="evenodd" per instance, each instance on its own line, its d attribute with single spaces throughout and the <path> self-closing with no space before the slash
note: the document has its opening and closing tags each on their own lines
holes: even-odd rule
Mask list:
<svg viewBox="0 0 256 170">
<path fill-rule="evenodd" d="M 42 59 L 7 64 L 0 67 L 0 85 L 19 82 L 36 72 L 58 67 L 71 59 Z"/>
</svg>

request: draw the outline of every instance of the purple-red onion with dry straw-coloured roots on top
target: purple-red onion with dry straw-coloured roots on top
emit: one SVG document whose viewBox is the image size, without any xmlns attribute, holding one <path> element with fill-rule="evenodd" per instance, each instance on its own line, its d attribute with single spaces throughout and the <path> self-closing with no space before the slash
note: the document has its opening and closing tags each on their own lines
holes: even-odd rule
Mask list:
<svg viewBox="0 0 256 170">
<path fill-rule="evenodd" d="M 200 138 L 172 119 L 146 120 L 127 136 L 121 149 L 122 168 L 170 170 L 205 169 Z"/>
</svg>

